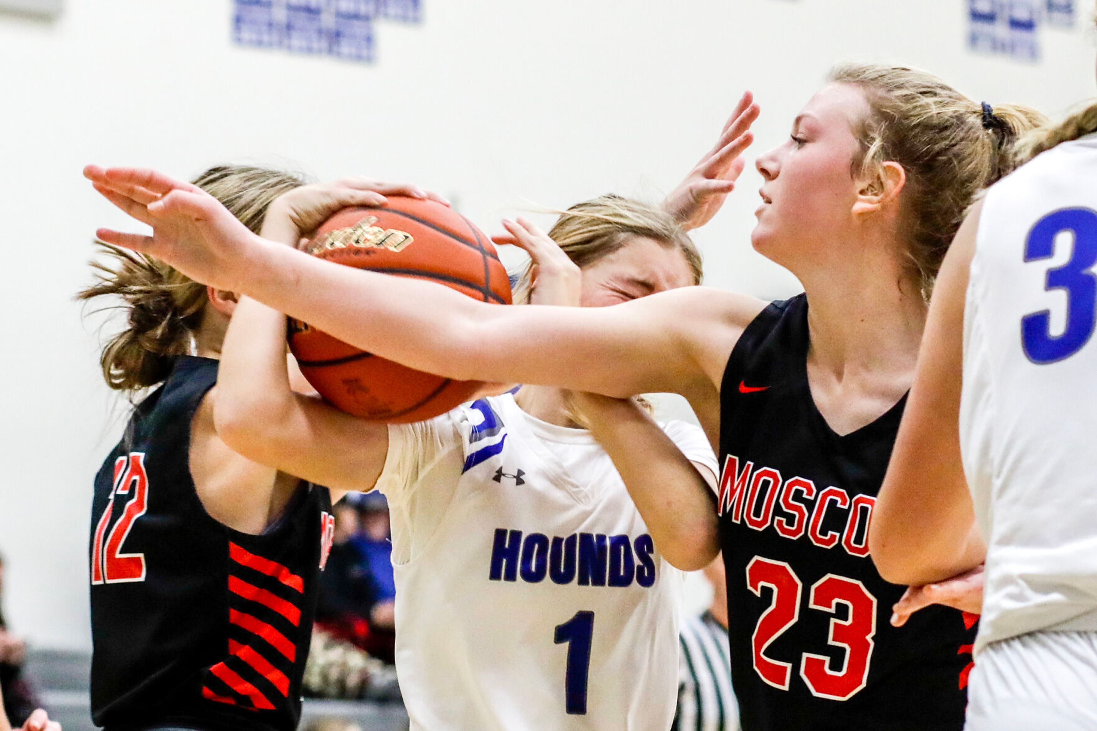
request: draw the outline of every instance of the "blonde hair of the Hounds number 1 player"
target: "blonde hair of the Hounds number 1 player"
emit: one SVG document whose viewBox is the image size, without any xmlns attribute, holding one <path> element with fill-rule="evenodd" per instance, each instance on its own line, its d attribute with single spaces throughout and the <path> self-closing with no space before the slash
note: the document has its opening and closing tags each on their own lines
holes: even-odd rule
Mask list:
<svg viewBox="0 0 1097 731">
<path fill-rule="evenodd" d="M 689 234 L 669 213 L 642 201 L 599 195 L 561 212 L 548 230 L 548 238 L 556 241 L 579 269 L 613 254 L 632 236 L 643 236 L 681 251 L 693 274 L 693 283 L 701 283 L 701 252 Z M 532 262 L 529 262 L 514 285 L 514 303 L 528 303 L 532 291 Z"/>
</svg>

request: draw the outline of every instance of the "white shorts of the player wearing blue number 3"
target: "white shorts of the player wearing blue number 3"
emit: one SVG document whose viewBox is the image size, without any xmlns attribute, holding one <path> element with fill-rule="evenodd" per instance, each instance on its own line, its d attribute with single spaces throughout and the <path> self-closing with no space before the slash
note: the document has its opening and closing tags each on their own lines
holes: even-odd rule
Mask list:
<svg viewBox="0 0 1097 731">
<path fill-rule="evenodd" d="M 1097 632 L 1031 632 L 975 659 L 964 731 L 1097 730 Z"/>
</svg>

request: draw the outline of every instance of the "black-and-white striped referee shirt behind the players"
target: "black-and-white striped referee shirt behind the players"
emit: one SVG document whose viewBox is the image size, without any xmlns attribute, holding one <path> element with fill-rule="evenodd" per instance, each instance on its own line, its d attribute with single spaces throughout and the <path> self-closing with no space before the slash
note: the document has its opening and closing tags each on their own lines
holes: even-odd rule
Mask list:
<svg viewBox="0 0 1097 731">
<path fill-rule="evenodd" d="M 727 630 L 705 611 L 682 622 L 679 640 L 682 651 L 672 731 L 738 731 Z"/>
</svg>

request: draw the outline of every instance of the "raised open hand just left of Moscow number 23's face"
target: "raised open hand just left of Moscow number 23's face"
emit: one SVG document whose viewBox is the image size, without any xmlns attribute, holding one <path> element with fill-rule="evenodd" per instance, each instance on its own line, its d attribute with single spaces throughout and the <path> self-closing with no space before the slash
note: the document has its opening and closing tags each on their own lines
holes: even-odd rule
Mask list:
<svg viewBox="0 0 1097 731">
<path fill-rule="evenodd" d="M 754 142 L 750 125 L 758 119 L 758 104 L 749 91 L 743 94 L 724 124 L 720 138 L 686 179 L 667 195 L 663 207 L 687 229 L 700 228 L 716 215 L 746 161 L 743 153 Z"/>
</svg>

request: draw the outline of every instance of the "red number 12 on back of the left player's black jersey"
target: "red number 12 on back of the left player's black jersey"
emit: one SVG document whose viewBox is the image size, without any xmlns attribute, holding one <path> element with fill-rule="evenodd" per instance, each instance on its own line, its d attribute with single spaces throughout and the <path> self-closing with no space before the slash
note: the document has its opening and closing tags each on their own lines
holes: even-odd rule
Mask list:
<svg viewBox="0 0 1097 731">
<path fill-rule="evenodd" d="M 129 502 L 118 519 L 111 525 L 114 498 L 131 495 Z M 148 474 L 145 472 L 145 453 L 131 452 L 114 462 L 114 486 L 106 508 L 95 524 L 91 538 L 91 583 L 121 584 L 145 581 L 145 554 L 122 553 L 122 544 L 129 536 L 134 520 L 145 515 L 148 508 Z M 105 536 L 105 537 L 104 537 Z"/>
</svg>

